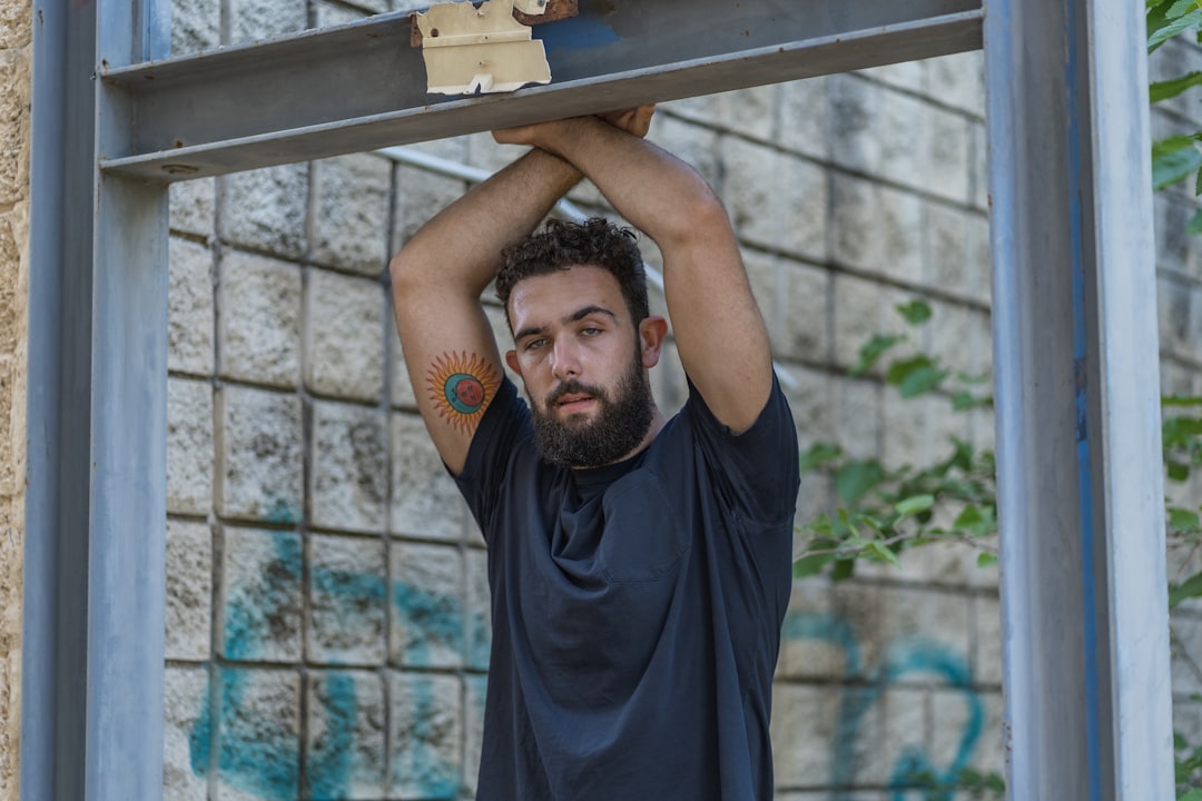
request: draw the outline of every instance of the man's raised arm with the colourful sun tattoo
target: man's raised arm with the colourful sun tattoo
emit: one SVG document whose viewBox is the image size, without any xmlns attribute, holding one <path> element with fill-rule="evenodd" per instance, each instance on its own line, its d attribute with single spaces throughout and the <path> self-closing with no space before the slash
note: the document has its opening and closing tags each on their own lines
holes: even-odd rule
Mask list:
<svg viewBox="0 0 1202 801">
<path fill-rule="evenodd" d="M 456 474 L 502 376 L 480 295 L 501 250 L 579 179 L 567 162 L 531 150 L 439 213 L 392 258 L 393 311 L 417 407 Z"/>
</svg>

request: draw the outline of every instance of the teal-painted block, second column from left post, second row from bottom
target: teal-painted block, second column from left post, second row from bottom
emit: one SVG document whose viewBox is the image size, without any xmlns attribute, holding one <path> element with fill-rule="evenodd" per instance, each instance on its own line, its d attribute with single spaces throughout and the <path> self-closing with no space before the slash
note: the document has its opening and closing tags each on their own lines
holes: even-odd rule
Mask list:
<svg viewBox="0 0 1202 801">
<path fill-rule="evenodd" d="M 236 662 L 302 658 L 300 537 L 226 528 L 221 550 L 220 653 Z"/>
</svg>

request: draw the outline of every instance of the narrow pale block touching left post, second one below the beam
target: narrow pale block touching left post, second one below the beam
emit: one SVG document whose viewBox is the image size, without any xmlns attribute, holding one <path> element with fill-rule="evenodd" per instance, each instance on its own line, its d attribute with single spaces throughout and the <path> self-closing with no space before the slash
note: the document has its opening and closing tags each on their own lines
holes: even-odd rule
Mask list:
<svg viewBox="0 0 1202 801">
<path fill-rule="evenodd" d="M 167 369 L 212 376 L 214 365 L 213 251 L 167 243 Z"/>
</svg>

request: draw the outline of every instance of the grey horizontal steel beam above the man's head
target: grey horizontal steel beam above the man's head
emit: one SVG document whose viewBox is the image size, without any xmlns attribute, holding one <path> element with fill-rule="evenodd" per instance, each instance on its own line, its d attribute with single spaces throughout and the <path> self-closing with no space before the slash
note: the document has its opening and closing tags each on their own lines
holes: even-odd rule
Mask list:
<svg viewBox="0 0 1202 801">
<path fill-rule="evenodd" d="M 980 0 L 584 0 L 535 29 L 552 83 L 426 92 L 409 14 L 129 67 L 102 167 L 179 180 L 981 47 Z M 728 20 L 728 22 L 719 22 Z"/>
</svg>

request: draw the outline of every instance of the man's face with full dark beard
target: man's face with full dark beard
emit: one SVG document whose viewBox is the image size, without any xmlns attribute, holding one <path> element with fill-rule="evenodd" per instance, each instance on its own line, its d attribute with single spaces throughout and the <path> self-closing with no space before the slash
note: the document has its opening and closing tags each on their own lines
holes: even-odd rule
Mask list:
<svg viewBox="0 0 1202 801">
<path fill-rule="evenodd" d="M 566 467 L 599 467 L 643 444 L 655 411 L 636 331 L 618 281 L 596 267 L 524 279 L 510 295 L 514 351 L 535 443 Z M 660 318 L 656 318 L 660 319 Z"/>
</svg>

